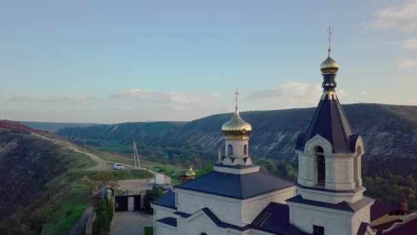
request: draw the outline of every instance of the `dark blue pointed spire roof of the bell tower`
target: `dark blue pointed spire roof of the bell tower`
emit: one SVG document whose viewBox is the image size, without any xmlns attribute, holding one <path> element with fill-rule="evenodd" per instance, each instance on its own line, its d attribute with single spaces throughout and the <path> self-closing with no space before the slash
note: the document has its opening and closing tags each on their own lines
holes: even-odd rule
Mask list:
<svg viewBox="0 0 417 235">
<path fill-rule="evenodd" d="M 337 67 L 338 69 L 338 67 Z M 318 103 L 309 128 L 306 133 L 298 137 L 297 150 L 304 150 L 305 144 L 315 137 L 321 135 L 333 145 L 333 153 L 355 152 L 356 139 L 359 135 L 353 135 L 348 118 L 344 113 L 339 99 L 336 96 L 337 86 L 335 78 L 337 69 L 323 71 L 323 95 Z"/>
</svg>

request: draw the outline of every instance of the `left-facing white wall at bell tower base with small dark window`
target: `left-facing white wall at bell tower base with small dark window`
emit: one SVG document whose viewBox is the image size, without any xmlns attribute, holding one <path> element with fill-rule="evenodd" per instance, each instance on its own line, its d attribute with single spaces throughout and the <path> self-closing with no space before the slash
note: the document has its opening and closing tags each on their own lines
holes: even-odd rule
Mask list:
<svg viewBox="0 0 417 235">
<path fill-rule="evenodd" d="M 313 225 L 324 227 L 324 234 L 353 235 L 352 212 L 289 204 L 289 222 L 299 230 L 313 234 Z M 357 231 L 355 231 L 357 232 Z"/>
</svg>

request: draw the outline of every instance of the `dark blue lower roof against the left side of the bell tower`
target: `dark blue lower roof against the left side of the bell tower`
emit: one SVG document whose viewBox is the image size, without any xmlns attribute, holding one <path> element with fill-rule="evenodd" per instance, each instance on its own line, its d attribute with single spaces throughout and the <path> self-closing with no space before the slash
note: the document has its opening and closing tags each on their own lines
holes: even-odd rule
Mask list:
<svg viewBox="0 0 417 235">
<path fill-rule="evenodd" d="M 281 203 L 269 203 L 257 218 L 252 221 L 251 225 L 258 230 L 274 234 L 302 234 L 300 230 L 289 223 L 288 205 Z"/>
</svg>

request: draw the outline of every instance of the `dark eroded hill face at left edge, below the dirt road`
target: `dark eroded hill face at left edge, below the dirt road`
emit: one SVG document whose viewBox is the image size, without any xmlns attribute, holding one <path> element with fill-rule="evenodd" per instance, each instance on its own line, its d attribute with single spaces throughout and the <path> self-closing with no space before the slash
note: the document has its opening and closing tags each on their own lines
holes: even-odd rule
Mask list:
<svg viewBox="0 0 417 235">
<path fill-rule="evenodd" d="M 0 133 L 0 221 L 35 201 L 66 170 L 57 150 L 30 134 Z"/>
</svg>

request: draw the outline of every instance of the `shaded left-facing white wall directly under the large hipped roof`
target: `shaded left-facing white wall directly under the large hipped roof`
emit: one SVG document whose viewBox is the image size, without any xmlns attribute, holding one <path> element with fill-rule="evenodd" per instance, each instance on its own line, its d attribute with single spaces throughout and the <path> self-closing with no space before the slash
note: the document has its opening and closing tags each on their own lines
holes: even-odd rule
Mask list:
<svg viewBox="0 0 417 235">
<path fill-rule="evenodd" d="M 178 211 L 194 214 L 202 208 L 208 208 L 221 221 L 242 226 L 241 200 L 181 190 L 179 188 L 176 189 L 176 192 L 178 197 Z"/>
</svg>

